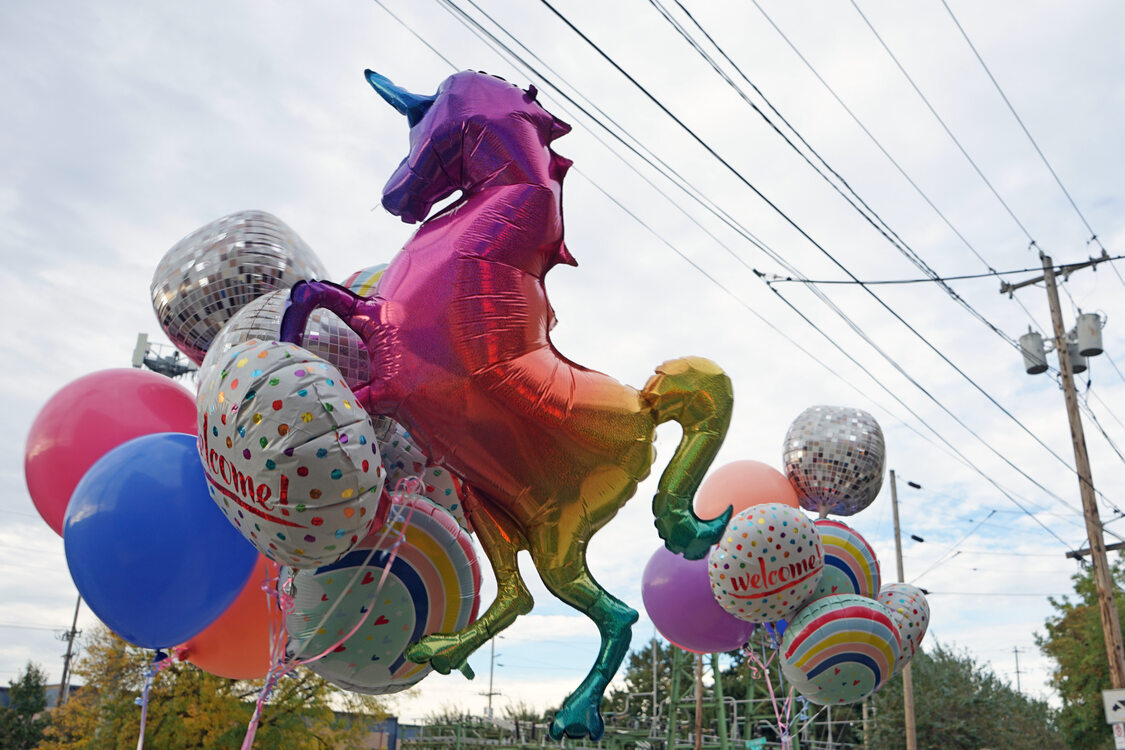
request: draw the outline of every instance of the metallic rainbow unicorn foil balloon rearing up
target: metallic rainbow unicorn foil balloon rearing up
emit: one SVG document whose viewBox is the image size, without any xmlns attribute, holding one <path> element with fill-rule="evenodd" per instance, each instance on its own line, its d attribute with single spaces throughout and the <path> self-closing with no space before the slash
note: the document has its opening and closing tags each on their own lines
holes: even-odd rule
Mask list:
<svg viewBox="0 0 1125 750">
<path fill-rule="evenodd" d="M 372 298 L 323 281 L 297 284 L 282 319 L 299 343 L 308 315 L 327 308 L 363 340 L 371 380 L 351 383 L 372 415 L 410 431 L 462 480 L 462 504 L 496 576 L 496 600 L 468 626 L 422 638 L 411 660 L 448 674 L 531 611 L 516 553 L 528 550 L 547 588 L 584 612 L 602 635 L 597 659 L 551 725 L 556 739 L 598 738 L 606 684 L 629 649 L 637 613 L 586 567 L 586 545 L 645 479 L 656 425 L 683 439 L 652 500 L 667 548 L 699 559 L 730 510 L 701 521 L 695 489 L 730 423 L 730 380 L 713 362 L 665 362 L 637 390 L 575 364 L 551 345 L 543 278 L 575 264 L 562 242 L 562 178 L 551 151 L 569 132 L 526 91 L 483 73 L 457 73 L 432 97 L 367 72 L 406 116 L 410 155 L 382 205 L 421 227 Z M 461 191 L 430 216 L 434 204 Z"/>
</svg>

